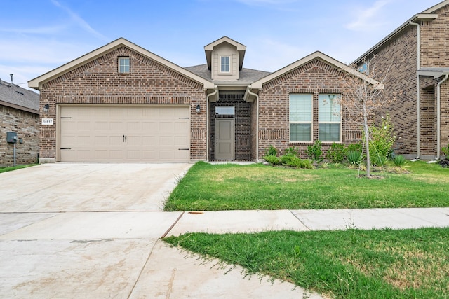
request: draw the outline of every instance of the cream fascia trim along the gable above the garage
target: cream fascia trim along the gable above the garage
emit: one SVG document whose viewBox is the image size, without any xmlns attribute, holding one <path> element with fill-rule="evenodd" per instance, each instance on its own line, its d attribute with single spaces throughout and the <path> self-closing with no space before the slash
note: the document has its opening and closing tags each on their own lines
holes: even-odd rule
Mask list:
<svg viewBox="0 0 449 299">
<path fill-rule="evenodd" d="M 115 50 L 116 48 L 119 48 L 121 46 L 126 46 L 132 50 L 135 50 L 136 52 L 149 57 L 151 60 L 154 60 L 156 62 L 159 62 L 166 67 L 173 69 L 173 71 L 177 71 L 180 74 L 183 74 L 192 80 L 203 84 L 204 89 L 210 89 L 213 88 L 214 84 L 210 81 L 207 81 L 204 78 L 201 78 L 200 76 L 193 74 L 190 71 L 187 71 L 187 69 L 184 69 L 177 64 L 174 64 L 173 62 L 169 62 L 168 60 L 163 59 L 162 57 L 149 52 L 149 50 L 145 50 L 144 48 L 137 46 L 135 43 L 131 43 L 130 41 L 120 38 L 116 39 L 115 41 L 112 41 L 111 43 L 108 43 L 105 46 L 102 46 L 101 48 L 98 48 L 96 50 L 93 50 L 90 53 L 87 53 L 86 55 L 83 55 L 76 60 L 72 60 L 71 62 L 68 62 L 67 64 L 63 64 L 61 67 L 58 67 L 56 69 L 53 69 L 52 71 L 48 71 L 48 73 L 43 74 L 37 78 L 34 78 L 30 81 L 28 81 L 28 86 L 30 88 L 34 88 L 36 90 L 39 90 L 43 83 L 46 83 L 48 81 L 51 81 L 53 78 L 56 78 L 58 76 L 61 76 L 62 74 L 67 73 L 68 71 L 72 71 L 73 69 L 76 69 L 77 67 L 81 66 L 82 64 L 86 64 L 87 62 L 90 62 L 92 60 L 95 60 L 96 58 L 105 55 L 105 53 L 108 53 L 112 50 Z"/>
</svg>

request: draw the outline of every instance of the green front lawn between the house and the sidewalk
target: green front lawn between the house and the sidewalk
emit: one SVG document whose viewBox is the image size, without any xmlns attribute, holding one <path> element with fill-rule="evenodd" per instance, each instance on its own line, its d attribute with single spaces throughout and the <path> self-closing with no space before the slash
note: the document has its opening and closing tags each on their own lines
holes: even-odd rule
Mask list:
<svg viewBox="0 0 449 299">
<path fill-rule="evenodd" d="M 392 168 L 394 169 L 394 168 Z M 357 169 L 293 169 L 198 162 L 173 190 L 165 211 L 449 207 L 449 169 L 408 162 L 408 174 Z"/>
</svg>

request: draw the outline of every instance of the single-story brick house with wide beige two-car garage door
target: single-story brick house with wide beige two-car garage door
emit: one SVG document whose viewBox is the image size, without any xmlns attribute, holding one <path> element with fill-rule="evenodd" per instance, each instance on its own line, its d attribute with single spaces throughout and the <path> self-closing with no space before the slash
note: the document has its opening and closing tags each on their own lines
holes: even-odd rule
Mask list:
<svg viewBox="0 0 449 299">
<path fill-rule="evenodd" d="M 270 145 L 304 155 L 317 139 L 360 140 L 334 99 L 340 76 L 366 75 L 320 52 L 246 69 L 246 46 L 226 36 L 204 50 L 206 64 L 182 68 L 121 38 L 29 81 L 50 120 L 40 162 L 259 160 Z"/>
</svg>

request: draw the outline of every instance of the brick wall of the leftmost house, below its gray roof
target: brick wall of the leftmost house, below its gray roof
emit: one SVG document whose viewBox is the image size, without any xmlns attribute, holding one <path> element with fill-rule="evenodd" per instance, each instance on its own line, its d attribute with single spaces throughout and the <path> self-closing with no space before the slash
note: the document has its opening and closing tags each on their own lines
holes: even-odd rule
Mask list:
<svg viewBox="0 0 449 299">
<path fill-rule="evenodd" d="M 39 115 L 0 105 L 0 166 L 14 165 L 14 145 L 6 142 L 6 132 L 16 132 L 23 144 L 16 144 L 16 163 L 37 162 Z"/>
</svg>

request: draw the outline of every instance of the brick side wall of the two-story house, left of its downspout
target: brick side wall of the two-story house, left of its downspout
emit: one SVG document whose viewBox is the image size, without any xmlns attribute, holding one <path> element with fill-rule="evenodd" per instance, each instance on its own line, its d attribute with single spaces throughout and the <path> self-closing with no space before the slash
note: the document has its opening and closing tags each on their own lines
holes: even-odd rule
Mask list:
<svg viewBox="0 0 449 299">
<path fill-rule="evenodd" d="M 366 57 L 368 60 L 372 58 Z M 389 113 L 398 143 L 396 153 L 417 155 L 417 30 L 410 26 L 382 46 L 375 60 L 377 79 L 385 77 L 384 97 L 396 99 L 381 115 Z M 372 64 L 373 65 L 373 64 Z M 387 72 L 388 71 L 388 72 Z M 378 79 L 380 81 L 380 79 Z M 377 119 L 379 116 L 377 116 Z M 422 132 L 424 134 L 424 132 Z M 431 137 L 426 137 L 431 138 Z M 423 153 L 424 154 L 424 153 Z M 414 157 L 413 157 L 414 158 Z"/>
</svg>

